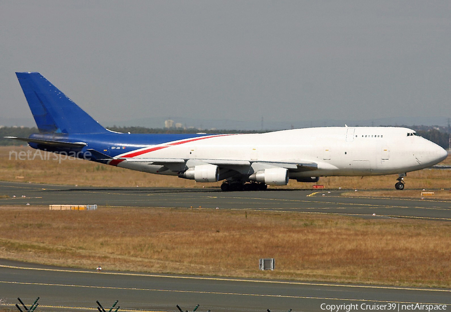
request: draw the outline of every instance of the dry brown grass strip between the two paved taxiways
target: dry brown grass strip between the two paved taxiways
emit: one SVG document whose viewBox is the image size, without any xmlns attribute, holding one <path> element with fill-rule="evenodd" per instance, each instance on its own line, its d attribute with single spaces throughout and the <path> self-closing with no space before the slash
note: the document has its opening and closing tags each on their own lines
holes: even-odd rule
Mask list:
<svg viewBox="0 0 451 312">
<path fill-rule="evenodd" d="M 30 234 L 32 233 L 32 234 Z M 0 257 L 54 265 L 451 287 L 451 223 L 216 209 L 0 208 Z M 260 271 L 260 258 L 276 270 Z"/>
</svg>

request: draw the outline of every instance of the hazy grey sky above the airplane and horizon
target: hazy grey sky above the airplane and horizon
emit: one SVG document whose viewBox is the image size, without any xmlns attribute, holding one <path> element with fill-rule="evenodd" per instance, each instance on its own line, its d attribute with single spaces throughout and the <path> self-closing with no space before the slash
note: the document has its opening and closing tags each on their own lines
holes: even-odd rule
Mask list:
<svg viewBox="0 0 451 312">
<path fill-rule="evenodd" d="M 101 124 L 451 117 L 449 1 L 4 1 L 0 109 L 38 71 Z"/>
</svg>

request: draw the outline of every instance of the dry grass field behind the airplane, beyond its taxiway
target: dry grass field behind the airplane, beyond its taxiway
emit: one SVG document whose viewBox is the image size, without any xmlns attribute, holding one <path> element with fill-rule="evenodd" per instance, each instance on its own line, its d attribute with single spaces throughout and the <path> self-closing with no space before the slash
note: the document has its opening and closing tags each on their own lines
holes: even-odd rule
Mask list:
<svg viewBox="0 0 451 312">
<path fill-rule="evenodd" d="M 192 180 L 173 176 L 153 175 L 144 172 L 97 164 L 86 160 L 55 160 L 55 154 L 41 152 L 33 160 L 16 160 L 14 153 L 27 152 L 33 157 L 36 150 L 27 146 L 0 147 L 0 180 L 33 183 L 72 184 L 86 186 L 117 187 L 219 187 L 218 183 L 196 183 Z M 11 156 L 10 156 L 10 153 Z M 47 154 L 42 160 L 41 155 Z M 451 157 L 444 161 L 451 163 Z M 327 189 L 385 189 L 385 195 L 407 196 L 409 189 L 451 189 L 449 170 L 421 170 L 408 173 L 405 178 L 406 190 L 394 189 L 397 175 L 374 177 L 322 177 L 317 184 Z M 275 186 L 269 186 L 270 188 Z M 288 186 L 278 188 L 313 189 L 313 183 L 290 181 Z M 386 190 L 388 189 L 388 190 Z M 415 193 L 417 197 L 418 192 Z M 1 194 L 0 194 L 1 195 Z M 359 194 L 355 194 L 359 195 Z M 451 194 L 449 194 L 451 198 Z"/>
</svg>

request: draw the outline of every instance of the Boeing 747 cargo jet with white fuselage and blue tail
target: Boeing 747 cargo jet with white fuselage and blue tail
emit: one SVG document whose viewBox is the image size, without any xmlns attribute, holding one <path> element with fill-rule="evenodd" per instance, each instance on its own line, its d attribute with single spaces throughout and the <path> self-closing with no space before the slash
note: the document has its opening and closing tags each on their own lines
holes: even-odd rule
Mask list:
<svg viewBox="0 0 451 312">
<path fill-rule="evenodd" d="M 35 149 L 197 182 L 223 191 L 265 190 L 289 179 L 399 174 L 446 158 L 440 146 L 398 127 L 321 127 L 261 134 L 129 134 L 102 127 L 40 73 L 16 73 L 39 133 Z"/>
</svg>

